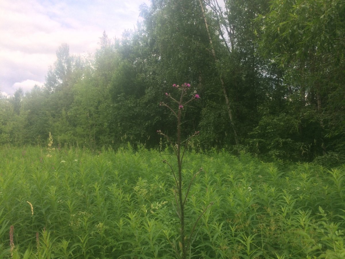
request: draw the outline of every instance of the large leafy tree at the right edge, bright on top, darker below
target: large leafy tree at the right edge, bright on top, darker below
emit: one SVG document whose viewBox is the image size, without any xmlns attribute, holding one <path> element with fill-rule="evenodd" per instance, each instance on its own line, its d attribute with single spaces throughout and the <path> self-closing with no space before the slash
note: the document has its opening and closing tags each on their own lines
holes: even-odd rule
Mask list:
<svg viewBox="0 0 345 259">
<path fill-rule="evenodd" d="M 283 69 L 286 99 L 314 156 L 344 152 L 343 1 L 273 1 L 261 24 L 262 52 Z M 336 109 L 334 109 L 337 107 Z M 317 124 L 317 126 L 316 126 Z M 316 128 L 315 128 L 316 127 Z"/>
</svg>

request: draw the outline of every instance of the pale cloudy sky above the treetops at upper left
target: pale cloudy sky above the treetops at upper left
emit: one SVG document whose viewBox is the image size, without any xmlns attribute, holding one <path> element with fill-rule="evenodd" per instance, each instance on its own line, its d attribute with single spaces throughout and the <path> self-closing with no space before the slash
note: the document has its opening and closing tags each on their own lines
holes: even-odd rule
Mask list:
<svg viewBox="0 0 345 259">
<path fill-rule="evenodd" d="M 121 38 L 140 20 L 149 0 L 0 0 L 0 92 L 42 86 L 62 43 L 70 54 L 99 48 L 103 31 Z"/>
</svg>

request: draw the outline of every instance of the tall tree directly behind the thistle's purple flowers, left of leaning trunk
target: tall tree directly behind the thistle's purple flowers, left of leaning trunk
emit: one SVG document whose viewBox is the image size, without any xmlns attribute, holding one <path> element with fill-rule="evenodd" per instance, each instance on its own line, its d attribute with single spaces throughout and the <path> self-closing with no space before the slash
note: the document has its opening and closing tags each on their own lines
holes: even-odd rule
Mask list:
<svg viewBox="0 0 345 259">
<path fill-rule="evenodd" d="M 181 131 L 185 137 L 198 128 L 201 107 L 208 99 L 205 92 L 213 95 L 217 92 L 219 99 L 220 82 L 215 80 L 216 66 L 204 20 L 200 19 L 199 1 L 152 1 L 150 8 L 142 10 L 142 16 L 144 24 L 140 41 L 146 49 L 141 51 L 145 55 L 142 60 L 146 62 L 142 62 L 142 68 L 146 74 L 141 79 L 145 82 L 146 100 L 158 104 L 161 96 L 169 90 L 168 86 L 186 81 L 203 96 L 203 100 L 186 113 L 186 123 Z M 171 127 L 174 118 L 158 109 L 155 114 L 157 117 L 151 120 L 151 125 L 163 125 L 170 128 L 171 135 L 175 135 L 176 128 Z M 160 123 L 157 123 L 158 119 Z"/>
</svg>

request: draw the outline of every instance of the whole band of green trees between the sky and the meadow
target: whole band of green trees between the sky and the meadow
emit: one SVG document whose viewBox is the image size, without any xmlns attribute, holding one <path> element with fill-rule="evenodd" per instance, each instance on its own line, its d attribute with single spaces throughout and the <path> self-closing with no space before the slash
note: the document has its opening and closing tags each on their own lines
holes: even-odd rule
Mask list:
<svg viewBox="0 0 345 259">
<path fill-rule="evenodd" d="M 200 99 L 185 109 L 191 147 L 278 159 L 345 154 L 342 0 L 152 0 L 121 39 L 88 57 L 57 50 L 43 88 L 1 97 L 0 143 L 117 148 L 164 145 L 176 122 L 159 107 L 172 84 Z"/>
</svg>

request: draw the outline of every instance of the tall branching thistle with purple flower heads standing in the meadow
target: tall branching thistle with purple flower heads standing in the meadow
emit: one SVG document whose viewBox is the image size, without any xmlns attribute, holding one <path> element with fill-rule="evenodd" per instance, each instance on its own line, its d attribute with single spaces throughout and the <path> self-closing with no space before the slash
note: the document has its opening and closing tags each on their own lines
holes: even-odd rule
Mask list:
<svg viewBox="0 0 345 259">
<path fill-rule="evenodd" d="M 175 200 L 176 200 L 176 204 L 177 204 L 177 214 L 178 214 L 178 217 L 180 218 L 180 227 L 181 227 L 180 228 L 180 235 L 181 236 L 180 236 L 179 247 L 180 247 L 180 252 L 181 252 L 182 258 L 185 259 L 187 256 L 188 246 L 190 245 L 191 236 L 195 230 L 196 224 L 197 224 L 198 220 L 201 218 L 201 215 L 205 213 L 206 209 L 211 204 L 201 213 L 200 217 L 195 222 L 194 227 L 191 230 L 191 233 L 189 234 L 189 239 L 187 240 L 187 237 L 185 234 L 184 208 L 186 205 L 187 196 L 188 196 L 188 193 L 190 190 L 191 183 L 193 182 L 193 180 L 197 176 L 197 174 L 199 174 L 203 169 L 201 167 L 199 169 L 199 171 L 196 174 L 194 174 L 193 179 L 190 181 L 190 183 L 188 185 L 188 188 L 187 188 L 185 195 L 183 195 L 183 193 L 182 193 L 182 190 L 183 190 L 182 161 L 183 161 L 183 157 L 185 155 L 185 152 L 187 150 L 187 145 L 188 145 L 189 141 L 191 140 L 191 138 L 198 135 L 199 131 L 196 131 L 193 135 L 191 135 L 187 138 L 185 145 L 184 145 L 184 148 L 183 148 L 183 151 L 181 152 L 181 117 L 183 115 L 183 111 L 184 111 L 185 107 L 187 107 L 187 104 L 189 104 L 193 100 L 199 99 L 200 96 L 198 94 L 195 94 L 195 95 L 193 95 L 193 97 L 191 97 L 190 99 L 185 101 L 184 99 L 187 97 L 188 90 L 190 89 L 190 84 L 184 83 L 181 86 L 174 84 L 174 85 L 172 85 L 172 87 L 176 88 L 177 90 L 180 91 L 179 99 L 178 98 L 175 99 L 170 94 L 165 93 L 165 96 L 167 98 L 171 99 L 172 103 L 170 104 L 170 102 L 169 102 L 169 104 L 167 104 L 164 102 L 160 102 L 159 105 L 167 107 L 177 119 L 177 143 L 174 145 L 174 143 L 172 143 L 170 138 L 166 134 L 162 133 L 161 130 L 158 130 L 157 133 L 167 138 L 167 140 L 170 142 L 172 148 L 174 149 L 175 155 L 177 157 L 177 165 L 178 165 L 178 174 L 177 175 L 175 174 L 173 167 L 166 160 L 163 160 L 163 162 L 169 165 L 171 172 L 172 172 L 172 175 L 174 176 L 175 184 L 176 184 Z M 176 250 L 176 252 L 177 252 L 177 250 Z"/>
</svg>

